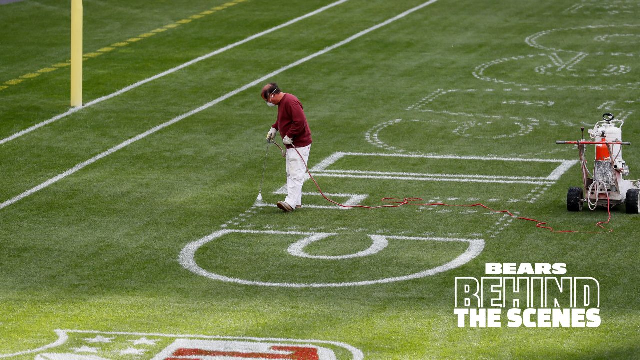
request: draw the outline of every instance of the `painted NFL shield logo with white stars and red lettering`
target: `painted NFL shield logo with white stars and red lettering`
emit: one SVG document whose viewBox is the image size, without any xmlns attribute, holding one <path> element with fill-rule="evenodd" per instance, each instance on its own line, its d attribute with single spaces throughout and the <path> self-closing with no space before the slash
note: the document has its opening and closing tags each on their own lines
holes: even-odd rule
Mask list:
<svg viewBox="0 0 640 360">
<path fill-rule="evenodd" d="M 12 360 L 342 360 L 364 359 L 351 345 L 323 340 L 56 330 L 58 341 L 0 354 Z"/>
</svg>

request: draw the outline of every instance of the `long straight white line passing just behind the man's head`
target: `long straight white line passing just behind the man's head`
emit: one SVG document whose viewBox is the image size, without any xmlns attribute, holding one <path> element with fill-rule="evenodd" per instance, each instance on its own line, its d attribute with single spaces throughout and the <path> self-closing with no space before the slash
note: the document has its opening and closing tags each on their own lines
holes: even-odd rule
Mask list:
<svg viewBox="0 0 640 360">
<path fill-rule="evenodd" d="M 179 117 L 170 120 L 168 122 L 165 122 L 164 124 L 161 124 L 159 126 L 154 127 L 153 129 L 150 129 L 148 131 L 146 131 L 145 133 L 141 133 L 140 135 L 127 140 L 123 143 L 121 143 L 120 145 L 117 145 L 115 147 L 112 147 L 111 149 L 109 149 L 108 151 L 102 152 L 102 154 L 99 154 L 97 156 L 94 156 L 93 158 L 91 158 L 90 160 L 84 161 L 84 163 L 80 163 L 78 165 L 76 165 L 75 167 L 67 170 L 66 172 L 64 172 L 63 174 L 60 174 L 56 177 L 53 177 L 52 179 L 49 179 L 47 181 L 45 181 L 44 183 L 36 186 L 35 188 L 28 190 L 27 192 L 21 193 L 20 195 L 14 197 L 13 199 L 7 200 L 5 202 L 3 202 L 2 204 L 0 204 L 0 209 L 6 208 L 7 206 L 10 206 L 11 204 L 14 204 L 15 202 L 24 199 L 25 197 L 28 197 L 29 195 L 38 192 L 39 190 L 42 190 L 44 188 L 46 188 L 47 186 L 56 183 L 56 181 L 63 179 L 71 174 L 74 174 L 75 172 L 77 172 L 78 170 L 81 170 L 84 167 L 87 167 L 88 165 L 91 165 L 92 163 L 95 163 L 95 161 L 98 161 L 106 156 L 109 156 L 111 154 L 113 154 L 114 152 L 127 147 L 129 145 L 131 145 L 134 142 L 137 142 L 138 140 L 141 140 L 143 138 L 146 138 L 147 136 L 156 133 L 156 131 L 159 131 L 161 129 L 164 129 L 164 127 L 168 127 L 171 126 L 173 124 L 175 124 L 176 122 L 179 122 L 182 119 L 186 119 L 188 117 L 190 117 L 191 115 L 194 115 L 196 113 L 199 113 L 200 111 L 204 111 L 207 110 L 208 108 L 211 108 L 211 106 L 214 106 L 222 101 L 227 100 L 228 98 L 239 94 L 240 92 L 243 92 L 244 90 L 247 90 L 248 88 L 252 88 L 255 85 L 259 85 L 260 83 L 262 83 L 263 81 L 269 79 L 269 78 L 273 78 L 273 76 L 276 76 L 282 72 L 285 72 L 286 70 L 292 69 L 302 63 L 306 63 L 309 60 L 312 60 L 314 58 L 317 58 L 318 56 L 324 55 L 334 49 L 337 49 L 338 47 L 345 45 L 345 44 L 349 44 L 349 42 L 352 42 L 353 40 L 356 40 L 357 38 L 363 37 L 364 35 L 367 35 L 368 33 L 371 33 L 371 31 L 374 31 L 376 29 L 380 29 L 383 26 L 387 26 L 388 24 L 391 24 L 392 22 L 402 19 L 403 17 L 406 17 L 406 15 L 409 15 L 410 13 L 416 12 L 417 10 L 420 10 L 422 8 L 424 8 L 425 6 L 428 6 L 430 4 L 435 3 L 438 0 L 430 0 L 427 1 L 426 3 L 423 3 L 419 6 L 416 6 L 415 8 L 412 8 L 410 10 L 407 10 L 406 12 L 401 13 L 400 15 L 396 15 L 396 17 L 392 17 L 391 19 L 386 20 L 385 22 L 381 22 L 378 25 L 374 25 L 371 28 L 365 29 L 363 31 L 360 31 L 359 33 L 357 33 L 356 35 L 353 35 L 349 38 L 346 38 L 345 40 L 342 40 L 341 42 L 337 43 L 337 44 L 333 44 L 330 47 L 326 47 L 325 49 L 318 51 L 317 53 L 311 54 L 309 56 L 307 56 L 306 58 L 302 58 L 301 60 L 298 60 L 294 63 L 291 63 L 285 67 L 282 67 L 278 70 L 275 70 L 274 72 L 271 72 L 265 76 L 262 76 L 262 78 L 259 78 L 255 81 L 252 81 L 251 83 L 248 83 L 244 86 L 242 86 L 241 88 L 237 88 L 236 90 L 229 92 L 221 97 L 218 97 L 218 99 L 215 99 L 214 101 L 208 102 L 207 104 L 204 104 L 203 106 L 200 106 L 200 108 L 197 108 L 196 110 L 192 110 L 189 111 L 188 113 L 185 113 L 183 115 L 180 115 Z"/>
</svg>

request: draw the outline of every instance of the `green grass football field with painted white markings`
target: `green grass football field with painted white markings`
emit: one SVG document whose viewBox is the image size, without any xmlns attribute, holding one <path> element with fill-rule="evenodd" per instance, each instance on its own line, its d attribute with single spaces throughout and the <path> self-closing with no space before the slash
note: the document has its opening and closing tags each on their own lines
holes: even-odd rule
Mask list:
<svg viewBox="0 0 640 360">
<path fill-rule="evenodd" d="M 260 359 L 639 359 L 640 216 L 613 208 L 605 233 L 606 209 L 569 213 L 578 154 L 555 143 L 614 113 L 640 177 L 638 19 L 635 0 L 85 0 L 70 110 L 70 2 L 0 4 L 0 359 L 218 340 L 325 351 Z M 339 209 L 311 181 L 285 214 L 274 146 L 257 204 L 271 81 L 303 103 L 337 202 L 482 203 L 580 233 L 479 207 Z M 459 328 L 455 279 L 486 263 L 597 279 L 602 324 Z"/>
</svg>

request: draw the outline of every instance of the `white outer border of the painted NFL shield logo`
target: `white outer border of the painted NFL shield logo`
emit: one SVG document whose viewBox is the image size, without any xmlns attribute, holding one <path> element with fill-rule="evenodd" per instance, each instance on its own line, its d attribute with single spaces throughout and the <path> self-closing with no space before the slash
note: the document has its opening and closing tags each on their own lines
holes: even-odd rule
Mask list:
<svg viewBox="0 0 640 360">
<path fill-rule="evenodd" d="M 252 340 L 257 342 L 264 341 L 278 341 L 278 342 L 286 342 L 286 343 L 312 343 L 315 344 L 327 344 L 334 345 L 336 347 L 342 347 L 351 352 L 353 356 L 353 360 L 362 360 L 364 359 L 364 353 L 360 351 L 360 349 L 355 348 L 346 343 L 340 343 L 339 341 L 328 341 L 328 340 L 315 340 L 315 339 L 289 339 L 289 338 L 250 338 L 243 336 L 211 336 L 211 335 L 189 335 L 189 334 L 160 334 L 157 332 L 122 332 L 122 331 L 93 331 L 93 330 L 55 330 L 58 335 L 58 340 L 55 343 L 51 343 L 49 345 L 45 345 L 44 347 L 36 348 L 34 350 L 28 350 L 23 352 L 16 352 L 13 354 L 0 354 L 0 358 L 3 357 L 14 357 L 20 356 L 24 354 L 32 354 L 34 352 L 40 352 L 42 350 L 47 350 L 49 348 L 59 347 L 60 345 L 64 345 L 68 341 L 68 334 L 104 334 L 104 335 L 132 335 L 132 336 L 154 336 L 159 338 L 190 338 L 190 339 L 208 339 L 208 340 Z"/>
</svg>

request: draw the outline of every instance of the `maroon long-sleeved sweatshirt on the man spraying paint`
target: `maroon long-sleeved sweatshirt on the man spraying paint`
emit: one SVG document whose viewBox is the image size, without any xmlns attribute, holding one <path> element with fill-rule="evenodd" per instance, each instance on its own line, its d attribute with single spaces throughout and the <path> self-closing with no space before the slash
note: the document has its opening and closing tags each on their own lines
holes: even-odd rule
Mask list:
<svg viewBox="0 0 640 360">
<path fill-rule="evenodd" d="M 278 103 L 278 121 L 271 127 L 280 131 L 283 139 L 285 136 L 292 138 L 296 147 L 305 147 L 312 142 L 305 111 L 302 110 L 300 100 L 294 95 L 285 94 L 282 97 Z M 291 145 L 287 145 L 287 149 L 291 148 Z"/>
</svg>

